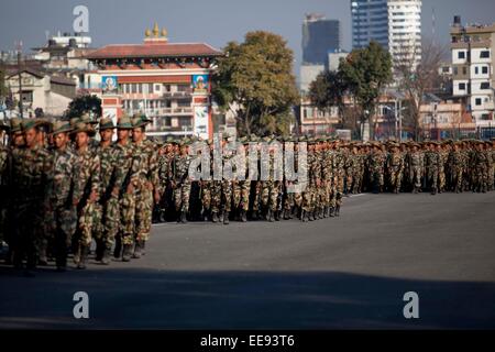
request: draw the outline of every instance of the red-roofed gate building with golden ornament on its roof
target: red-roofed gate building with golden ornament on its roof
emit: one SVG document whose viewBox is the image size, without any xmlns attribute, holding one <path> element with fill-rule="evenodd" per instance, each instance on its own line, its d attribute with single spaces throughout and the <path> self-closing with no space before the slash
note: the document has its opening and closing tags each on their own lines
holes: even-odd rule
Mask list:
<svg viewBox="0 0 495 352">
<path fill-rule="evenodd" d="M 155 23 L 143 44 L 107 45 L 87 56 L 102 84 L 102 116 L 145 113 L 150 135 L 211 138 L 210 75 L 222 53 L 205 43 L 168 43 Z"/>
</svg>

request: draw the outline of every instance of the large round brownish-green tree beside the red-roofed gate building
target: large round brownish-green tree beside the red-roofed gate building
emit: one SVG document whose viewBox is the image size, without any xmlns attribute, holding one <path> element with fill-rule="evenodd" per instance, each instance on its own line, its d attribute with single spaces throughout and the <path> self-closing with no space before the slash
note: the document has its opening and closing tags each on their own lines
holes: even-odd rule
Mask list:
<svg viewBox="0 0 495 352">
<path fill-rule="evenodd" d="M 213 99 L 234 112 L 241 135 L 279 130 L 298 102 L 287 42 L 270 32 L 250 32 L 243 43 L 229 43 L 224 53 L 212 75 Z"/>
</svg>

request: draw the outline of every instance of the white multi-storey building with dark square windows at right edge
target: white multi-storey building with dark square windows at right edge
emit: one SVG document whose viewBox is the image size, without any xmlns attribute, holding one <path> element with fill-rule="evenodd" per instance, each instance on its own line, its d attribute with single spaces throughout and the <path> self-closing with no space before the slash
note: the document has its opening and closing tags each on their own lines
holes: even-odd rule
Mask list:
<svg viewBox="0 0 495 352">
<path fill-rule="evenodd" d="M 495 24 L 462 25 L 455 16 L 450 31 L 453 95 L 461 97 L 477 127 L 494 123 Z"/>
</svg>

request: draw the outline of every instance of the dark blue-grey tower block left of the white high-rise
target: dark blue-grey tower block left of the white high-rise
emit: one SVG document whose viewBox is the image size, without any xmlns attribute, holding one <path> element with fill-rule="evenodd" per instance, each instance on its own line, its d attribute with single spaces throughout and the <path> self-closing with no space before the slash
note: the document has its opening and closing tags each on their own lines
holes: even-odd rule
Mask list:
<svg viewBox="0 0 495 352">
<path fill-rule="evenodd" d="M 302 63 L 327 65 L 329 52 L 340 51 L 342 36 L 339 20 L 319 13 L 306 14 L 302 23 Z"/>
</svg>

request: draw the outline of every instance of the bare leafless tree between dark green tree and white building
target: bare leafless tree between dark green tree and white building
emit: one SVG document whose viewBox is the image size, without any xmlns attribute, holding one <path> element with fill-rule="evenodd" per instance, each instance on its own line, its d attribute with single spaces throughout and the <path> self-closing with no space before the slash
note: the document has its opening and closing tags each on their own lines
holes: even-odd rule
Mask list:
<svg viewBox="0 0 495 352">
<path fill-rule="evenodd" d="M 406 50 L 407 47 L 404 48 L 404 51 Z M 409 102 L 409 122 L 413 127 L 415 140 L 418 140 L 420 135 L 420 108 L 425 94 L 441 86 L 442 78 L 439 68 L 446 53 L 444 46 L 427 41 L 422 44 L 419 63 L 414 58 L 416 51 L 411 55 L 406 55 L 405 59 L 394 63 L 394 70 L 398 76 L 398 88 L 404 91 Z"/>
</svg>

